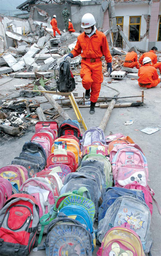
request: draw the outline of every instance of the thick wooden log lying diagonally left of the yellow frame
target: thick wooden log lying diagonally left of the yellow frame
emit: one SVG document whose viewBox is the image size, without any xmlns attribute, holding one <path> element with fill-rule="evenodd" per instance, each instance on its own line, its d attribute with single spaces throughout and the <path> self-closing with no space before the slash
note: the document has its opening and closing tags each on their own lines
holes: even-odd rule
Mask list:
<svg viewBox="0 0 161 256">
<path fill-rule="evenodd" d="M 52 94 L 45 93 L 46 90 L 44 89 L 43 86 L 38 86 L 38 89 L 40 91 L 44 91 L 42 93 L 45 96 L 45 98 L 47 98 L 47 100 L 50 102 L 50 104 L 55 108 L 55 110 L 58 111 L 58 113 L 60 114 L 60 116 L 63 117 L 64 120 L 71 119 L 71 117 L 67 113 L 65 113 L 63 108 L 60 107 L 60 105 L 53 99 Z"/>
</svg>

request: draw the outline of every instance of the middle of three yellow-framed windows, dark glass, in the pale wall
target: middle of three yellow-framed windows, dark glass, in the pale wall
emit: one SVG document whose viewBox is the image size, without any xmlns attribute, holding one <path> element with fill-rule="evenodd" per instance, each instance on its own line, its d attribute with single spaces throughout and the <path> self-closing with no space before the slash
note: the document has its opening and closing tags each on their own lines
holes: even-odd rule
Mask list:
<svg viewBox="0 0 161 256">
<path fill-rule="evenodd" d="M 129 41 L 140 41 L 141 16 L 130 17 Z"/>
</svg>

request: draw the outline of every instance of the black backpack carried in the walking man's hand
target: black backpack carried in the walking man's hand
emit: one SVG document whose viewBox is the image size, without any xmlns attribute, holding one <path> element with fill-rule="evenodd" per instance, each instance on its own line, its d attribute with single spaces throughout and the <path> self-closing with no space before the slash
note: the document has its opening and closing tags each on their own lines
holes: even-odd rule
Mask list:
<svg viewBox="0 0 161 256">
<path fill-rule="evenodd" d="M 70 71 L 69 62 L 63 61 L 59 65 L 59 79 L 57 80 L 57 90 L 59 92 L 72 92 L 75 89 L 75 80 Z"/>
</svg>

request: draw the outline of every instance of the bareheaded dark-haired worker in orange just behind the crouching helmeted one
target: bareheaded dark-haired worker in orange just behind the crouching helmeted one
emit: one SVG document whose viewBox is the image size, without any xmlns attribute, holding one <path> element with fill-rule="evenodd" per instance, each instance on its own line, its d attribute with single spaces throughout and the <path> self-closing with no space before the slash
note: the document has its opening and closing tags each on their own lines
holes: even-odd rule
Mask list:
<svg viewBox="0 0 161 256">
<path fill-rule="evenodd" d="M 139 59 L 139 63 L 142 64 L 143 58 L 149 57 L 151 58 L 152 66 L 156 69 L 158 68 L 161 74 L 161 62 L 157 62 L 157 55 L 155 54 L 157 50 L 158 49 L 154 46 L 149 52 L 143 53 L 143 55 Z"/>
</svg>

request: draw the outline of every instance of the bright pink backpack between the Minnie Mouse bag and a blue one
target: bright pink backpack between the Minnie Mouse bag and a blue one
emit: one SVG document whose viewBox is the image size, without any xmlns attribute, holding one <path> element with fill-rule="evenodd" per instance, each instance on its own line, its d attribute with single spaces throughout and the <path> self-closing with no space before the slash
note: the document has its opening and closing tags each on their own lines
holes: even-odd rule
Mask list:
<svg viewBox="0 0 161 256">
<path fill-rule="evenodd" d="M 152 212 L 153 212 L 152 196 L 154 195 L 154 191 L 149 187 L 148 184 L 147 184 L 146 187 L 144 187 L 140 183 L 138 183 L 137 181 L 134 181 L 131 184 L 127 184 L 123 188 L 142 190 L 142 192 L 144 193 L 145 203 L 149 207 L 150 213 L 152 215 Z"/>
</svg>

